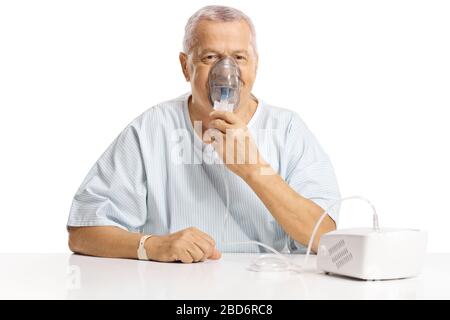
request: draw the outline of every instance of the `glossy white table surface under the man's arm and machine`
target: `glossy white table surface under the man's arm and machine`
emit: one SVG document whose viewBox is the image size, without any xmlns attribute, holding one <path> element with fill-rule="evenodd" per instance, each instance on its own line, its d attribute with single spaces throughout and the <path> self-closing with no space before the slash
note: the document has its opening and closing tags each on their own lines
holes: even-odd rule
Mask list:
<svg viewBox="0 0 450 320">
<path fill-rule="evenodd" d="M 255 254 L 158 263 L 72 254 L 0 254 L 0 299 L 449 299 L 450 254 L 428 254 L 419 277 L 362 281 L 248 270 Z M 289 257 L 302 263 L 304 256 Z M 315 265 L 315 257 L 310 259 Z"/>
</svg>

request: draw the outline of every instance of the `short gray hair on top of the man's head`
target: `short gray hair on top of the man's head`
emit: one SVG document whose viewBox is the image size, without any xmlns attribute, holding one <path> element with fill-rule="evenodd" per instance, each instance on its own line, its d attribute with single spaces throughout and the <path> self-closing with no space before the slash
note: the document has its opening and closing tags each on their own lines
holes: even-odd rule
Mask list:
<svg viewBox="0 0 450 320">
<path fill-rule="evenodd" d="M 226 6 L 206 6 L 194 13 L 186 23 L 184 28 L 183 51 L 188 54 L 195 45 L 195 29 L 202 20 L 218 21 L 218 22 L 233 22 L 244 20 L 251 32 L 252 46 L 255 54 L 258 54 L 256 49 L 256 31 L 252 20 L 242 11 Z"/>
</svg>

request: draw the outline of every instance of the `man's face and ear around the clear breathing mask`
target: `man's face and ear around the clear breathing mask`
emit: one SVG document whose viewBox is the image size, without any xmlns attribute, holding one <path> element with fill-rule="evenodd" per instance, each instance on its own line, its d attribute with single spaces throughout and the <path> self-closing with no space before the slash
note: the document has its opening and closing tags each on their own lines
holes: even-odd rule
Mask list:
<svg viewBox="0 0 450 320">
<path fill-rule="evenodd" d="M 197 42 L 189 55 L 180 54 L 187 80 L 191 82 L 192 102 L 211 106 L 209 101 L 208 73 L 224 56 L 233 57 L 241 71 L 241 103 L 249 101 L 256 77 L 258 57 L 253 50 L 252 35 L 245 21 L 201 21 L 196 29 Z"/>
</svg>

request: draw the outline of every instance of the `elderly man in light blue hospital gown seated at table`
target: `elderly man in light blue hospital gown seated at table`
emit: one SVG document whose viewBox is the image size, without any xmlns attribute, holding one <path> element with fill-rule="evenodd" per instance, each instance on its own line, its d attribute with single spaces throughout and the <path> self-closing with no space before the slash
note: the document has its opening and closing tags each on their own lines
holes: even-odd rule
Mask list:
<svg viewBox="0 0 450 320">
<path fill-rule="evenodd" d="M 263 250 L 237 243 L 249 240 L 304 251 L 338 186 L 300 117 L 251 93 L 258 66 L 251 20 L 234 8 L 204 7 L 188 20 L 183 45 L 191 92 L 149 108 L 95 163 L 73 199 L 70 249 L 185 263 Z M 240 71 L 233 111 L 214 110 L 209 96 L 209 72 L 224 57 Z M 337 217 L 323 220 L 314 251 Z"/>
</svg>

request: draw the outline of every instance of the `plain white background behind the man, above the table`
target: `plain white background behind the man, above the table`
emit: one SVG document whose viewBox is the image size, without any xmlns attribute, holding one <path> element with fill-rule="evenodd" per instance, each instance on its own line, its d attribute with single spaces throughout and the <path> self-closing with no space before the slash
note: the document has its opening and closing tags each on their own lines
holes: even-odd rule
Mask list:
<svg viewBox="0 0 450 320">
<path fill-rule="evenodd" d="M 450 244 L 450 2 L 222 1 L 254 21 L 257 97 L 297 111 L 342 195 Z M 207 1 L 0 1 L 0 252 L 67 252 L 72 197 L 148 107 L 189 90 L 184 25 Z M 340 227 L 368 226 L 363 204 Z"/>
</svg>

